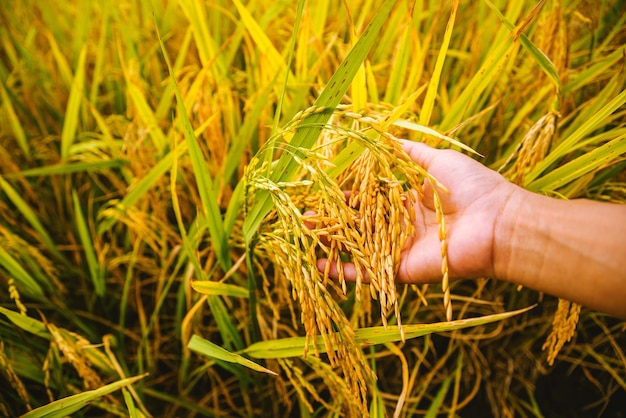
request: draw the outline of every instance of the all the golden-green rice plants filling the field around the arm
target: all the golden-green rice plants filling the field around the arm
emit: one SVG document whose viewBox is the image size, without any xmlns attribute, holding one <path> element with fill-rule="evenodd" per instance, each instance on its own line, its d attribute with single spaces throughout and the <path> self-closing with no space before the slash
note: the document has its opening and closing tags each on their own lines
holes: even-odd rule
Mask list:
<svg viewBox="0 0 626 418">
<path fill-rule="evenodd" d="M 0 415 L 625 410 L 624 323 L 448 283 L 443 217 L 393 281 L 396 138 L 626 202 L 625 6 L 0 0 Z"/>
</svg>

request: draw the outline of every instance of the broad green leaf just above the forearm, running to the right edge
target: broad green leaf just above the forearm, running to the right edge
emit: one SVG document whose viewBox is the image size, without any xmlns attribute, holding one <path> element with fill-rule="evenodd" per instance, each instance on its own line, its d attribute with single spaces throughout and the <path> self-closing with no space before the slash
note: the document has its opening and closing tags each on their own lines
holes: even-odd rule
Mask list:
<svg viewBox="0 0 626 418">
<path fill-rule="evenodd" d="M 553 191 L 563 187 L 587 173 L 591 173 L 626 153 L 626 135 L 621 135 L 606 144 L 594 148 L 527 185 L 532 191 Z"/>
</svg>

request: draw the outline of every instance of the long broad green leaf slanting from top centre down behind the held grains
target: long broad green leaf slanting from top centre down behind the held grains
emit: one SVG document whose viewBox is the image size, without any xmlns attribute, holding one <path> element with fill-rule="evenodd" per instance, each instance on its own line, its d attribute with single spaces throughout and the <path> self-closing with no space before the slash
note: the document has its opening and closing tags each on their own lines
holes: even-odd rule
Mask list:
<svg viewBox="0 0 626 418">
<path fill-rule="evenodd" d="M 386 0 L 370 25 L 361 34 L 361 37 L 350 50 L 346 58 L 339 65 L 337 71 L 328 81 L 320 96 L 315 101 L 314 106 L 319 109 L 334 109 L 341 98 L 350 87 L 350 83 L 356 72 L 361 67 L 367 53 L 374 44 L 380 29 L 385 24 L 389 13 L 395 5 L 395 0 Z M 294 148 L 311 148 L 321 132 L 321 126 L 328 122 L 330 112 L 318 112 L 309 115 L 302 121 L 302 125 L 309 127 L 298 130 L 291 139 Z M 270 174 L 273 181 L 289 181 L 298 162 L 288 153 L 283 153 L 276 164 L 275 169 Z M 244 235 L 246 242 L 250 242 L 257 228 L 265 218 L 265 215 L 273 206 L 269 192 L 260 190 L 257 192 L 256 201 L 250 209 L 244 221 Z"/>
</svg>

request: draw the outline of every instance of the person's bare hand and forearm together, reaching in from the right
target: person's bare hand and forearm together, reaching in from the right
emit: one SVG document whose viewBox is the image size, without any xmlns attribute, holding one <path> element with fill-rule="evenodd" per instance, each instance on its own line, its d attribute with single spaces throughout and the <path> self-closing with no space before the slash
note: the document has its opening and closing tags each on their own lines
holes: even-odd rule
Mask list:
<svg viewBox="0 0 626 418">
<path fill-rule="evenodd" d="M 449 191 L 439 192 L 447 226 L 449 278 L 491 277 L 626 319 L 626 205 L 560 200 L 529 192 L 453 150 L 403 141 L 406 153 Z M 432 189 L 415 205 L 415 229 L 396 280 L 441 280 Z M 324 269 L 327 261 L 319 260 Z M 331 277 L 337 277 L 331 265 Z M 346 264 L 344 277 L 356 280 Z"/>
</svg>

